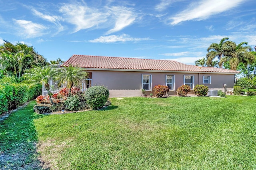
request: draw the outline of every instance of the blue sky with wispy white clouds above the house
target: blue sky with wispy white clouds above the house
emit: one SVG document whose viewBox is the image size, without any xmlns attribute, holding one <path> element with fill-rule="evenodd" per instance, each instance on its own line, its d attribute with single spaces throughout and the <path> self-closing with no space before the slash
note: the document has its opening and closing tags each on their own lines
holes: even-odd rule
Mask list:
<svg viewBox="0 0 256 170">
<path fill-rule="evenodd" d="M 0 44 L 194 64 L 223 37 L 256 46 L 255 0 L 0 0 Z"/>
</svg>

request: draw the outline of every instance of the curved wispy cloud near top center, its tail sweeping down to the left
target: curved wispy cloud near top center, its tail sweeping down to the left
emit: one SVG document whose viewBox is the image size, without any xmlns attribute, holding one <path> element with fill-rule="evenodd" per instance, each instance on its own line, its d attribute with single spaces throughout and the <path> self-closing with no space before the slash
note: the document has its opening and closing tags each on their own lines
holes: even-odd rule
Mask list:
<svg viewBox="0 0 256 170">
<path fill-rule="evenodd" d="M 107 31 L 106 34 L 110 34 L 116 31 L 120 31 L 124 27 L 131 25 L 136 19 L 136 15 L 128 8 L 125 7 L 112 7 L 110 9 L 112 11 L 113 17 L 115 18 L 115 26 L 114 28 Z"/>
</svg>

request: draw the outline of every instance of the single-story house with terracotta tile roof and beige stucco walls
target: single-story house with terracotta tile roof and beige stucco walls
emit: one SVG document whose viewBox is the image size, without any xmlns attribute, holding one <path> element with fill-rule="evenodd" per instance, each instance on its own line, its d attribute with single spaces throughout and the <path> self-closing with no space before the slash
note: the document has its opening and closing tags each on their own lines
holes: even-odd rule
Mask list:
<svg viewBox="0 0 256 170">
<path fill-rule="evenodd" d="M 89 73 L 90 76 L 83 83 L 83 90 L 102 85 L 109 89 L 110 97 L 141 96 L 142 89 L 149 95 L 154 93 L 153 88 L 158 84 L 168 86 L 170 96 L 176 96 L 176 89 L 183 84 L 189 85 L 191 89 L 196 84 L 204 84 L 209 90 L 226 91 L 234 86 L 235 75 L 239 73 L 177 61 L 89 55 L 72 55 L 62 66 L 69 64 L 82 67 Z"/>
</svg>

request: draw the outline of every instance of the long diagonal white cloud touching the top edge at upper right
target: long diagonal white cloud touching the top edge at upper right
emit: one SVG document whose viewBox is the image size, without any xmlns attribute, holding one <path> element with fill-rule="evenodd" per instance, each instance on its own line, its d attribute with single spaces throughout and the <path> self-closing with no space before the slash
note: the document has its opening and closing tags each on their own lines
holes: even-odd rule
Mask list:
<svg viewBox="0 0 256 170">
<path fill-rule="evenodd" d="M 189 20 L 204 20 L 212 15 L 231 10 L 242 2 L 244 0 L 201 0 L 200 2 L 193 2 L 186 10 L 169 18 L 171 20 L 170 24 L 176 25 Z"/>
</svg>

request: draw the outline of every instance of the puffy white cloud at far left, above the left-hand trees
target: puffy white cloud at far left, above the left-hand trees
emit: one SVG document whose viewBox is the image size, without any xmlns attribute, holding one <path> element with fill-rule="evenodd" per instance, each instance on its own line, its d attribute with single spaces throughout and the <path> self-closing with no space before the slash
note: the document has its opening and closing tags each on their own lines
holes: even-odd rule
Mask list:
<svg viewBox="0 0 256 170">
<path fill-rule="evenodd" d="M 40 37 L 44 34 L 44 30 L 47 29 L 44 25 L 33 23 L 32 21 L 15 19 L 13 21 L 20 27 L 18 28 L 18 34 L 26 38 Z"/>
</svg>

